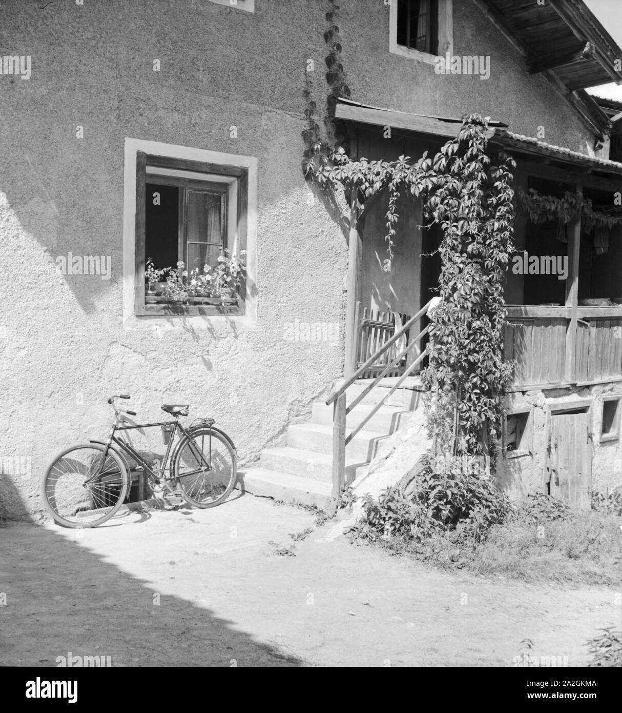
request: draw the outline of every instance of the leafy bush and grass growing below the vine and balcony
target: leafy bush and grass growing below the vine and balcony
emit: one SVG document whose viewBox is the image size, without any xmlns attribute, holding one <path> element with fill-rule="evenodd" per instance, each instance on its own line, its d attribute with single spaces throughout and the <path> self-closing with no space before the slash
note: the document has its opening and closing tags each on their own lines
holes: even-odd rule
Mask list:
<svg viewBox="0 0 622 713">
<path fill-rule="evenodd" d="M 617 586 L 622 520 L 615 498 L 599 502 L 597 511 L 581 513 L 544 494 L 512 505 L 478 476 L 443 476 L 427 467 L 413 496 L 388 488 L 377 501 L 367 497 L 365 519 L 351 538 L 449 570 Z"/>
</svg>

